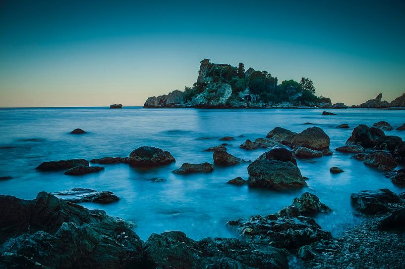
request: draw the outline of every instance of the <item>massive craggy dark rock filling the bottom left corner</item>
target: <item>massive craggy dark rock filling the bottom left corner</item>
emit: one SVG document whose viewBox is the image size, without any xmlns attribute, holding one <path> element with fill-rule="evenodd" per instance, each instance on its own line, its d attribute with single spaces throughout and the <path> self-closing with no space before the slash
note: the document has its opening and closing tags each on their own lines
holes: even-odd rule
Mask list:
<svg viewBox="0 0 405 269">
<path fill-rule="evenodd" d="M 0 216 L 0 268 L 141 268 L 132 225 L 102 210 L 40 192 L 34 200 L 1 195 Z"/>
</svg>

